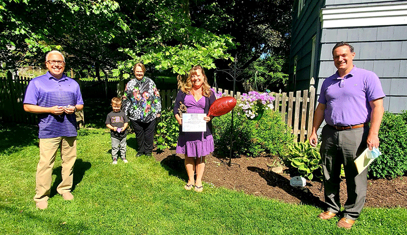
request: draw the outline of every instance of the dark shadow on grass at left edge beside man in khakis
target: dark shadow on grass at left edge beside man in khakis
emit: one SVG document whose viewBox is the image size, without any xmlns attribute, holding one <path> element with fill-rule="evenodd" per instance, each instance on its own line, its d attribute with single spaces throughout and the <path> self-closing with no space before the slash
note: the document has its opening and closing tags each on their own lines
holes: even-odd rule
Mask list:
<svg viewBox="0 0 407 235">
<path fill-rule="evenodd" d="M 38 146 L 38 126 L 0 123 L 0 153 L 12 154 L 19 148 Z"/>
</svg>

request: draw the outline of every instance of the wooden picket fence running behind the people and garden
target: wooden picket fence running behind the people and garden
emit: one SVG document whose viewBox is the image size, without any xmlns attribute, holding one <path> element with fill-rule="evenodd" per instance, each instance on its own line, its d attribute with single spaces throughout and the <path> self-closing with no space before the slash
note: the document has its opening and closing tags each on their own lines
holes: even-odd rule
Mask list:
<svg viewBox="0 0 407 235">
<path fill-rule="evenodd" d="M 32 78 L 28 77 L 13 77 L 11 73 L 8 73 L 7 78 L 0 78 L 0 121 L 37 124 L 37 115 L 24 112 L 23 110 L 24 92 L 31 79 Z M 108 88 L 108 86 L 110 88 Z M 82 93 L 84 94 L 86 92 L 91 96 L 95 93 L 95 89 L 103 90 L 102 87 L 105 87 L 106 94 L 107 91 L 109 91 L 109 93 L 114 93 L 112 96 L 116 94 L 121 96 L 124 86 L 124 81 L 81 83 Z M 233 91 L 227 89 L 214 87 L 214 90 L 215 92 L 220 91 L 226 96 L 234 96 L 237 99 L 241 96 L 240 92 L 234 94 Z M 96 93 L 98 93 L 100 97 L 100 92 Z M 314 114 L 314 79 L 311 79 L 310 87 L 307 90 L 273 94 L 276 98 L 274 101 L 274 110 L 282 114 L 282 120 L 287 123 L 293 135 L 297 137 L 295 141 L 304 142 L 307 140 L 311 133 Z M 177 90 L 161 89 L 160 95 L 162 107 L 172 109 L 177 96 Z"/>
</svg>

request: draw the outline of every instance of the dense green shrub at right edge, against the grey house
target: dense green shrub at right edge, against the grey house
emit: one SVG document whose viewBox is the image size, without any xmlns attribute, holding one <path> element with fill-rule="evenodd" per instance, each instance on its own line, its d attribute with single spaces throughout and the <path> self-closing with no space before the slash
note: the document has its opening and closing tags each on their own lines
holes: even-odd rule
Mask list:
<svg viewBox="0 0 407 235">
<path fill-rule="evenodd" d="M 382 155 L 369 165 L 369 177 L 394 178 L 407 172 L 407 114 L 385 112 L 379 130 Z"/>
</svg>

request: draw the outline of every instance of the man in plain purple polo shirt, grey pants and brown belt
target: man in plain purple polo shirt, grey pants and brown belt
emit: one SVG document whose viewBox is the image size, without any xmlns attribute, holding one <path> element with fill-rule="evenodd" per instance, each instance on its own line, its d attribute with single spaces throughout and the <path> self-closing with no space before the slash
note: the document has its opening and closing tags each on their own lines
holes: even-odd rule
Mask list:
<svg viewBox="0 0 407 235">
<path fill-rule="evenodd" d="M 318 215 L 331 219 L 340 211 L 339 183 L 344 166 L 347 200 L 338 227 L 351 228 L 366 200 L 367 168 L 360 174 L 354 159 L 368 147 L 379 146 L 379 128 L 384 113 L 382 85 L 370 71 L 353 65 L 355 52 L 345 42 L 337 43 L 332 55 L 338 71 L 327 78 L 318 98 L 309 142 L 316 146 L 316 130 L 323 120 L 321 157 L 327 210 Z M 369 126 L 370 122 L 370 126 Z"/>
</svg>

